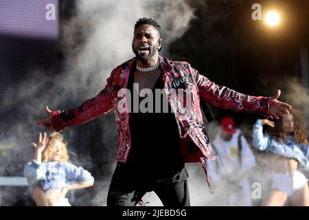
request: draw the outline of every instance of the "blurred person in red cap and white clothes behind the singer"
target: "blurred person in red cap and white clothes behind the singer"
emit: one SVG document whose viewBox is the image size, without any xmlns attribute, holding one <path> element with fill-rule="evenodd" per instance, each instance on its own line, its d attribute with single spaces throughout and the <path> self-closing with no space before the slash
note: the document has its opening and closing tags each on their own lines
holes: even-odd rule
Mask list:
<svg viewBox="0 0 309 220">
<path fill-rule="evenodd" d="M 216 189 L 214 202 L 219 201 L 220 206 L 252 206 L 248 176 L 256 165 L 255 156 L 233 118 L 220 120 L 212 146 L 216 159 L 207 160 L 207 165 Z"/>
</svg>

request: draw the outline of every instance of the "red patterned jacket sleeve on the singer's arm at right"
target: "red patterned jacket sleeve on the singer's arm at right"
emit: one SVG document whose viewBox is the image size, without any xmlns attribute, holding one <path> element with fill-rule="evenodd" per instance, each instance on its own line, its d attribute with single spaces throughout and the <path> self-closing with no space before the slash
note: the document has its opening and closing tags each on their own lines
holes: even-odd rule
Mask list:
<svg viewBox="0 0 309 220">
<path fill-rule="evenodd" d="M 228 87 L 216 85 L 206 76 L 199 74 L 196 69 L 192 68 L 192 73 L 198 85 L 201 98 L 209 104 L 222 109 L 270 115 L 268 111 L 269 97 L 244 95 Z"/>
</svg>

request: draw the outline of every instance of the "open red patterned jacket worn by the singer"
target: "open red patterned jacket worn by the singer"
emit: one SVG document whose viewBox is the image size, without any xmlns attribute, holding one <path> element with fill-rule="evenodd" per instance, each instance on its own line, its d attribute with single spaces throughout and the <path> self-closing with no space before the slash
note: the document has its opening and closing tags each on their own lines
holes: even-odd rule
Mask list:
<svg viewBox="0 0 309 220">
<path fill-rule="evenodd" d="M 188 132 L 188 137 L 181 144 L 184 161 L 201 162 L 207 176 L 205 159 L 214 159 L 214 156 L 211 153 L 211 145 L 203 125 L 200 97 L 216 107 L 263 115 L 270 115 L 268 111 L 269 98 L 247 96 L 227 87 L 220 87 L 205 76 L 198 74 L 198 71 L 193 69 L 189 63 L 169 61 L 161 56 L 159 56 L 159 61 L 161 69 L 165 73 L 163 74 L 163 82 L 168 102 L 178 118 L 183 132 Z M 136 58 L 133 58 L 113 69 L 111 76 L 107 79 L 106 87 L 95 98 L 87 100 L 76 109 L 54 111 L 52 117 L 54 129 L 61 131 L 67 126 L 83 124 L 113 109 L 119 135 L 117 161 L 126 162 L 130 152 L 129 113 L 119 111 L 118 106 L 122 104 L 122 107 L 126 108 L 125 89 L 130 69 L 135 62 Z M 182 102 L 179 102 L 179 97 L 172 94 L 172 89 L 179 88 L 184 89 L 186 93 L 192 93 L 190 109 L 185 110 Z M 189 140 L 195 143 L 192 144 L 196 148 L 194 151 L 188 149 L 186 142 Z M 207 182 L 209 184 L 208 176 Z"/>
</svg>

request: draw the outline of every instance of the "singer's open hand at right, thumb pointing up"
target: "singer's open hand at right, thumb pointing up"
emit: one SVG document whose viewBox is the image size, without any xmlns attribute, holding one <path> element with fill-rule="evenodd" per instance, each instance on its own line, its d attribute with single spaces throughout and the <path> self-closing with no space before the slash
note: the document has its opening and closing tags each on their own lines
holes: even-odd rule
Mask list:
<svg viewBox="0 0 309 220">
<path fill-rule="evenodd" d="M 275 94 L 275 96 L 271 97 L 269 100 L 269 113 L 271 114 L 271 118 L 284 118 L 284 116 L 289 113 L 288 109 L 292 109 L 290 104 L 286 104 L 277 100 L 280 94 L 281 91 L 278 90 L 277 94 Z"/>
</svg>

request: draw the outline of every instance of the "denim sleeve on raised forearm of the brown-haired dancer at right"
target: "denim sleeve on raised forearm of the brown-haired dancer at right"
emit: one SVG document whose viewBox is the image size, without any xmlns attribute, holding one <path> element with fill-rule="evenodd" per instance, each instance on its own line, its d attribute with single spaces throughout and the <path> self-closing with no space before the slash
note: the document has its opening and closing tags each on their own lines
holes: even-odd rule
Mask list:
<svg viewBox="0 0 309 220">
<path fill-rule="evenodd" d="M 260 151 L 265 151 L 268 146 L 269 135 L 263 134 L 262 120 L 257 120 L 253 125 L 253 140 L 252 144 Z"/>
</svg>

